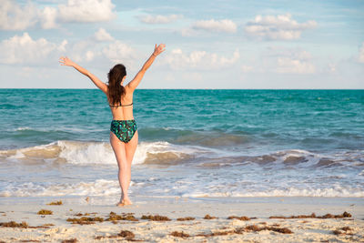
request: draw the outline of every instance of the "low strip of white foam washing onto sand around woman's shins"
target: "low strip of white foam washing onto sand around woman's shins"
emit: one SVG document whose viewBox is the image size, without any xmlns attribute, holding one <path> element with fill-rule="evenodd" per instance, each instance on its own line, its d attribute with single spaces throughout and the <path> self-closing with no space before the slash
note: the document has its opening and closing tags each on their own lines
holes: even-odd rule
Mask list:
<svg viewBox="0 0 364 243">
<path fill-rule="evenodd" d="M 266 190 L 249 190 L 248 188 L 230 187 L 225 190 L 217 190 L 208 185 L 191 187 L 173 187 L 164 183 L 153 183 L 146 186 L 145 183 L 131 181 L 129 193 L 138 196 L 158 197 L 364 197 L 364 191 L 352 187 L 330 187 L 330 188 L 278 188 Z M 187 192 L 189 191 L 189 192 Z M 0 197 L 56 197 L 56 196 L 117 196 L 120 187 L 117 179 L 97 179 L 90 182 L 78 183 L 13 183 L 0 191 Z"/>
</svg>

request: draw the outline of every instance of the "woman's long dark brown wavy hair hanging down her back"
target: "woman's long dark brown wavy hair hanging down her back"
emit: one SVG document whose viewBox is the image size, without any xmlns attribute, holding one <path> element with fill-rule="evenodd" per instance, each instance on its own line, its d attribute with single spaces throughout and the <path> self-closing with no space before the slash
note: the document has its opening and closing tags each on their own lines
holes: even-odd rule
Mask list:
<svg viewBox="0 0 364 243">
<path fill-rule="evenodd" d="M 121 85 L 124 76 L 126 76 L 126 67 L 122 64 L 114 66 L 107 74 L 107 96 L 108 102 L 112 106 L 121 106 L 121 96 L 126 93 L 125 87 Z"/>
</svg>

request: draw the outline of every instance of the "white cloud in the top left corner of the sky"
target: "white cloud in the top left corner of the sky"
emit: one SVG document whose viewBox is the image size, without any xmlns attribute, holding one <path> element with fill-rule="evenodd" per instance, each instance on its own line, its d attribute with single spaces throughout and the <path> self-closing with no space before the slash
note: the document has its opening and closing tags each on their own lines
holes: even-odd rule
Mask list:
<svg viewBox="0 0 364 243">
<path fill-rule="evenodd" d="M 2 0 L 0 4 L 0 29 L 24 30 L 36 23 L 35 5 L 17 5 L 15 1 Z"/>
</svg>

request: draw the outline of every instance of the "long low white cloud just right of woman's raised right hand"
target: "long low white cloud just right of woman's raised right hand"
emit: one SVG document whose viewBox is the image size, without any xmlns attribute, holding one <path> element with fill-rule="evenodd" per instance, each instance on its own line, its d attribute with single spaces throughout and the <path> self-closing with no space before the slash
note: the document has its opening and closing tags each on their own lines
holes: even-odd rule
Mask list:
<svg viewBox="0 0 364 243">
<path fill-rule="evenodd" d="M 172 69 L 197 68 L 197 69 L 218 69 L 232 66 L 240 57 L 239 51 L 236 50 L 230 58 L 226 56 L 217 56 L 215 53 L 206 51 L 193 51 L 185 54 L 181 49 L 173 49 L 164 59 Z"/>
</svg>

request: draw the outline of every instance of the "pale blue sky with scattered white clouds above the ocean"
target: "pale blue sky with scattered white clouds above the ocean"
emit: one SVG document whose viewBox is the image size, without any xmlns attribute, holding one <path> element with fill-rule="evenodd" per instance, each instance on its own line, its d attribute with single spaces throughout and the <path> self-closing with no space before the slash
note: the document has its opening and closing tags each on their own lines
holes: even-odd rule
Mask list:
<svg viewBox="0 0 364 243">
<path fill-rule="evenodd" d="M 0 0 L 0 87 L 89 88 L 167 50 L 141 88 L 364 88 L 364 1 Z"/>
</svg>

